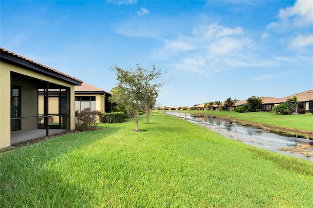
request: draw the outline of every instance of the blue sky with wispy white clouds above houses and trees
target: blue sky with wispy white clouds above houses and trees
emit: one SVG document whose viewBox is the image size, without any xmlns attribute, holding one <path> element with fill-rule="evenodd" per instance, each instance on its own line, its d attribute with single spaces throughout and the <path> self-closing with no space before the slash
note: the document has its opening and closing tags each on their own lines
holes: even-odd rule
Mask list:
<svg viewBox="0 0 313 208">
<path fill-rule="evenodd" d="M 167 71 L 158 105 L 313 89 L 313 1 L 0 1 L 0 46 L 105 91 Z"/>
</svg>

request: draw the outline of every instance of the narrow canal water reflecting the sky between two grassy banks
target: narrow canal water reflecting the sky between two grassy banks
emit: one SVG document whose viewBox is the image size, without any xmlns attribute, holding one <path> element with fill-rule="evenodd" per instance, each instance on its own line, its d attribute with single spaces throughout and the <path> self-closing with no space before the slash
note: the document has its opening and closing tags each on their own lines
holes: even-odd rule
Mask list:
<svg viewBox="0 0 313 208">
<path fill-rule="evenodd" d="M 180 113 L 178 111 L 166 111 L 165 113 L 185 119 L 196 125 L 200 125 L 232 140 L 243 142 L 251 146 L 257 146 L 263 149 L 268 149 L 281 154 L 313 161 L 313 157 L 307 158 L 299 153 L 291 153 L 290 151 L 279 150 L 279 148 L 282 147 L 291 148 L 293 146 L 300 145 L 310 145 L 313 148 L 313 140 L 283 136 L 271 133 L 255 126 L 242 125 L 238 122 L 233 122 L 228 119 L 216 118 L 206 114 Z"/>
</svg>

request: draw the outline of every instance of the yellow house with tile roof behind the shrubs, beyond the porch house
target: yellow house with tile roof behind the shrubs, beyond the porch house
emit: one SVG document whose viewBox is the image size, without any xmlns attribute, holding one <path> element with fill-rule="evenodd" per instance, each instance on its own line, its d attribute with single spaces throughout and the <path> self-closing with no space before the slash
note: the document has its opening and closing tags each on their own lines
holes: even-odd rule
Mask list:
<svg viewBox="0 0 313 208">
<path fill-rule="evenodd" d="M 109 112 L 111 105 L 108 99 L 110 96 L 111 93 L 101 88 L 82 83 L 80 86 L 75 86 L 75 110 L 89 107 L 91 110 L 99 110 L 102 113 Z"/>
</svg>

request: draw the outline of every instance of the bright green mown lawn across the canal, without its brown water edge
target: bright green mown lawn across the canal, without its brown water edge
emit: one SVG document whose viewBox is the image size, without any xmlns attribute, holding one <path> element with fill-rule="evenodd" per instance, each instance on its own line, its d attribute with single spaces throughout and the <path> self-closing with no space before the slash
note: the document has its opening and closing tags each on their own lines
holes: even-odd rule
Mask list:
<svg viewBox="0 0 313 208">
<path fill-rule="evenodd" d="M 238 113 L 234 111 L 211 111 L 211 110 L 201 110 L 201 111 L 185 110 L 180 112 L 228 116 L 259 124 L 313 131 L 313 116 L 306 114 L 280 115 L 277 113 L 270 112 Z"/>
</svg>

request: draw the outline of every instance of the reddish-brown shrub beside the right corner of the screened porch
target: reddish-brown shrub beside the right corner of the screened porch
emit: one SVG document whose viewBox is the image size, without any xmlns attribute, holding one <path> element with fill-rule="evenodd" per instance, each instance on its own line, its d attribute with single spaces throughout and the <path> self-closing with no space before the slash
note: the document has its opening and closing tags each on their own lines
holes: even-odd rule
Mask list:
<svg viewBox="0 0 313 208">
<path fill-rule="evenodd" d="M 100 121 L 101 112 L 98 110 L 91 111 L 90 108 L 75 111 L 75 128 L 80 131 L 95 130 Z"/>
</svg>

